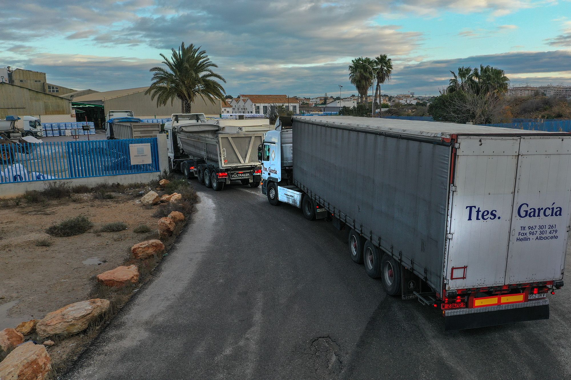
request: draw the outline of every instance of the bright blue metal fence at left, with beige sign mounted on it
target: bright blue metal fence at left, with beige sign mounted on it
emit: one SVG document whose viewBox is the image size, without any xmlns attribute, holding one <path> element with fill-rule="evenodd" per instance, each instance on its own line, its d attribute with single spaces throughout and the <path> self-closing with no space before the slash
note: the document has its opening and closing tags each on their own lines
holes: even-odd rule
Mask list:
<svg viewBox="0 0 571 380">
<path fill-rule="evenodd" d="M 131 164 L 131 144 L 149 144 L 151 163 Z M 156 138 L 0 144 L 0 183 L 159 171 Z"/>
</svg>

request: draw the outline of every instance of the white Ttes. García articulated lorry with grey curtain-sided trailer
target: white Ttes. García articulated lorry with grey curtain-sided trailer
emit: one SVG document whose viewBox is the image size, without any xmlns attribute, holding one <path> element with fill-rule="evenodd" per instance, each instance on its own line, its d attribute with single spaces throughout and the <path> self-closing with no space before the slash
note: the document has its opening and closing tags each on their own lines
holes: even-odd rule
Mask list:
<svg viewBox="0 0 571 380">
<path fill-rule="evenodd" d="M 276 126 L 259 147 L 262 192 L 346 227 L 352 260 L 388 294 L 440 309 L 446 330 L 549 318 L 571 135 L 352 116 Z"/>
</svg>

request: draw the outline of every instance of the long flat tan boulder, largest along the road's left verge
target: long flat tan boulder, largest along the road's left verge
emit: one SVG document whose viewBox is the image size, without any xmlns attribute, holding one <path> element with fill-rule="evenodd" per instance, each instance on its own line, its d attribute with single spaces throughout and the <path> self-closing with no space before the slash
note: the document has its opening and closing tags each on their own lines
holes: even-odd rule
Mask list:
<svg viewBox="0 0 571 380">
<path fill-rule="evenodd" d="M 100 298 L 79 301 L 48 313 L 36 325 L 42 338 L 58 334 L 75 334 L 87 329 L 101 314 L 109 310 L 109 301 Z"/>
</svg>

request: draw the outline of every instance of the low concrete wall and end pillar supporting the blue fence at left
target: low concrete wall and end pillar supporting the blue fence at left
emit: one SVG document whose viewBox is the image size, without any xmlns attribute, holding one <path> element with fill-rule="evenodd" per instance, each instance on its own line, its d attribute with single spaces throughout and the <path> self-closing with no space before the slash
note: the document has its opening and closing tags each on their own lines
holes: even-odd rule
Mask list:
<svg viewBox="0 0 571 380">
<path fill-rule="evenodd" d="M 159 168 L 160 172 L 168 169 L 168 152 L 167 152 L 167 136 L 162 134 L 157 136 L 159 148 Z M 100 183 L 148 183 L 158 178 L 160 172 L 153 173 L 138 173 L 138 174 L 123 174 L 118 176 L 102 176 L 102 177 L 87 177 L 87 178 L 74 178 L 62 179 L 61 181 L 69 182 L 72 186 L 75 185 L 89 185 L 95 186 Z M 30 182 L 14 182 L 14 183 L 0 183 L 0 199 L 13 198 L 24 195 L 26 191 L 43 190 L 46 183 L 53 180 L 46 181 L 30 181 Z"/>
</svg>

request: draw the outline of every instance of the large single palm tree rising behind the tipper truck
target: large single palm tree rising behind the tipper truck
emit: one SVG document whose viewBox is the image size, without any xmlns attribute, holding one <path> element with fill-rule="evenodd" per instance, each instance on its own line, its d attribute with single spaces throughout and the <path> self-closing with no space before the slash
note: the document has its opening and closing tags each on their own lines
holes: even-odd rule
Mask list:
<svg viewBox="0 0 571 380">
<path fill-rule="evenodd" d="M 178 98 L 182 103 L 183 114 L 190 114 L 192 103 L 199 95 L 212 104 L 216 103 L 216 99 L 224 99 L 224 88 L 216 79 L 224 83 L 226 80 L 212 71 L 212 68 L 218 66 L 211 62 L 206 50 L 200 50 L 200 46 L 195 47 L 192 43 L 184 46 L 184 42 L 178 51 L 174 48 L 171 50 L 170 59 L 160 55 L 167 68 L 157 66 L 150 70 L 154 72 L 152 84 L 145 94 L 151 94 L 151 99 L 156 98 L 157 106 L 166 106 L 168 100 L 172 105 L 174 99 Z"/>
</svg>

